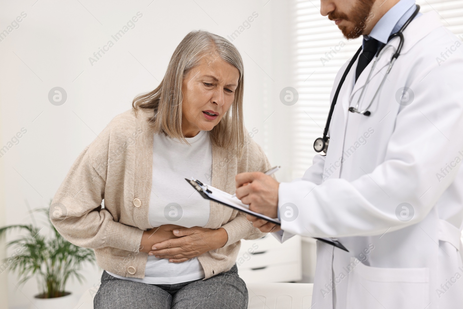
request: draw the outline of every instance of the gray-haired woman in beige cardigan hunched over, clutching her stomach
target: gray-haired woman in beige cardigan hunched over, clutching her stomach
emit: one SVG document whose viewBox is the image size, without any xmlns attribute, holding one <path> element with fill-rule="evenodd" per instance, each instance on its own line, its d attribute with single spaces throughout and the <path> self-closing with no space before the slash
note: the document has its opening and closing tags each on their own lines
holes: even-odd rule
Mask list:
<svg viewBox="0 0 463 309">
<path fill-rule="evenodd" d="M 243 82 L 234 45 L 190 32 L 159 86 L 75 160 L 50 220 L 73 244 L 94 249 L 104 269 L 95 309 L 247 308 L 235 261 L 241 239 L 264 234 L 184 179 L 234 193 L 237 173 L 269 169 L 244 129 Z"/>
</svg>

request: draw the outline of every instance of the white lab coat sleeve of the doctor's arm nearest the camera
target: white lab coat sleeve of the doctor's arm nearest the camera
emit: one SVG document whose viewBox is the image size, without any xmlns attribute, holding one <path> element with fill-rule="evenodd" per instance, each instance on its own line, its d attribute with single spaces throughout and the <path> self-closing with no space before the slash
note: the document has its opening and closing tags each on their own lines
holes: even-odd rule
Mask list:
<svg viewBox="0 0 463 309">
<path fill-rule="evenodd" d="M 414 101 L 400 107 L 385 157 L 374 169 L 353 181 L 319 184 L 319 163 L 305 179 L 280 183 L 278 207 L 288 202 L 295 207 L 295 219 L 283 218 L 282 230 L 310 237 L 368 236 L 425 218 L 456 177 L 457 157 L 463 157 L 463 56 L 455 53 L 439 66 L 433 57 L 416 61 L 404 85 L 413 90 Z M 442 173 L 447 164 L 452 169 Z M 404 202 L 414 213 L 407 222 L 396 215 Z"/>
</svg>

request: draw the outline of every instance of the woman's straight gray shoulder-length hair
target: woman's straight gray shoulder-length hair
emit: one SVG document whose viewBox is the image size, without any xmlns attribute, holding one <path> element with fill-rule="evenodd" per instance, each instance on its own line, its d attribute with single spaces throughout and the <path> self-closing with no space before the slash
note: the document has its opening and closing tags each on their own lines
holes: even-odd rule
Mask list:
<svg viewBox="0 0 463 309">
<path fill-rule="evenodd" d="M 239 71 L 238 87 L 232 106 L 210 131 L 210 137 L 213 145 L 240 156 L 245 140 L 244 67 L 237 48 L 225 38 L 203 30 L 188 33 L 175 48 L 159 86 L 149 93 L 138 95 L 133 100 L 132 107 L 135 113 L 138 108 L 154 109 L 155 117 L 150 120 L 154 132 L 187 142 L 181 130 L 182 83 L 188 72 L 208 55 L 220 57 Z"/>
</svg>

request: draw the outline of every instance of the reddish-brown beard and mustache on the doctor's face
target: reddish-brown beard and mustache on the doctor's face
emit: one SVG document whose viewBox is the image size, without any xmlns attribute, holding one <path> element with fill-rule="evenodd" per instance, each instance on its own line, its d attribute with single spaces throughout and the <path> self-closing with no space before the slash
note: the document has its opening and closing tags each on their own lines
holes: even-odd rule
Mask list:
<svg viewBox="0 0 463 309">
<path fill-rule="evenodd" d="M 375 14 L 371 13 L 371 8 L 374 3 L 375 0 L 357 0 L 356 6 L 351 10 L 351 12 L 349 12 L 349 14 L 335 10 L 328 14 L 328 19 L 344 19 L 345 21 L 349 21 L 352 25 L 339 25 L 339 30 L 343 32 L 344 38 L 348 40 L 358 38 L 368 27 L 368 23 L 371 19 L 375 17 Z"/>
</svg>

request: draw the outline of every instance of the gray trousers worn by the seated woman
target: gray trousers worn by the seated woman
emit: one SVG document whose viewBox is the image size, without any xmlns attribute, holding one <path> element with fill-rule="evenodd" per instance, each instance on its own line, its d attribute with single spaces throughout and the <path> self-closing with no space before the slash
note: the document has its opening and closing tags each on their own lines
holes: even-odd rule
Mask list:
<svg viewBox="0 0 463 309">
<path fill-rule="evenodd" d="M 103 271 L 94 309 L 246 309 L 248 290 L 236 264 L 206 280 L 146 284 Z"/>
</svg>

